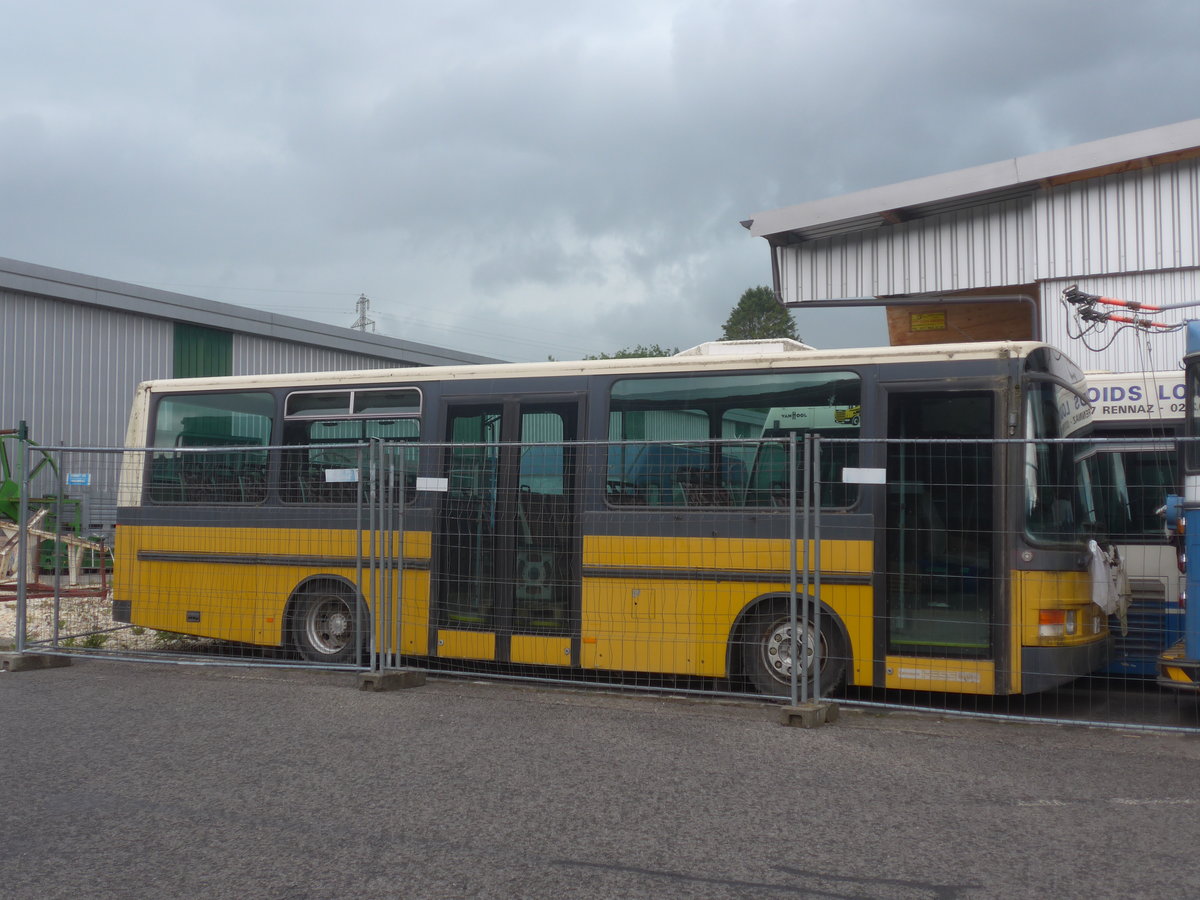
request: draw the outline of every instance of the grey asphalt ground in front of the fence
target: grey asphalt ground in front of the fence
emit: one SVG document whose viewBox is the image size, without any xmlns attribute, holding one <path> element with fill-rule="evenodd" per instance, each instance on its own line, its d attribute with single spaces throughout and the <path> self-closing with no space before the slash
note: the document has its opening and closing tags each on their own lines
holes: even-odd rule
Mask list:
<svg viewBox="0 0 1200 900">
<path fill-rule="evenodd" d="M 0 895 L 1178 898 L 1200 737 L 431 678 L 0 674 Z"/>
</svg>

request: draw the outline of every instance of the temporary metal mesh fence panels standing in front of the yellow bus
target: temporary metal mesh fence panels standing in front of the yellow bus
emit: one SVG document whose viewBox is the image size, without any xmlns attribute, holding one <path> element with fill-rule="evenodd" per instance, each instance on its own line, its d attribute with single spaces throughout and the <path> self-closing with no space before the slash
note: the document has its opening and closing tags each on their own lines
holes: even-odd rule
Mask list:
<svg viewBox="0 0 1200 900">
<path fill-rule="evenodd" d="M 0 510 L 0 640 L 1193 730 L 1195 697 L 1156 679 L 1182 616 L 1165 458 L 1136 440 L 37 448 Z"/>
</svg>

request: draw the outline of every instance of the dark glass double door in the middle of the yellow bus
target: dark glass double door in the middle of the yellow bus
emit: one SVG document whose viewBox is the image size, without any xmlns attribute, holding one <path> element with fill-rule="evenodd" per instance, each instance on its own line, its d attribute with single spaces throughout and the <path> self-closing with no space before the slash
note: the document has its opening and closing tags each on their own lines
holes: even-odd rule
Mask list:
<svg viewBox="0 0 1200 900">
<path fill-rule="evenodd" d="M 446 409 L 432 655 L 570 665 L 578 656 L 580 403 Z"/>
</svg>

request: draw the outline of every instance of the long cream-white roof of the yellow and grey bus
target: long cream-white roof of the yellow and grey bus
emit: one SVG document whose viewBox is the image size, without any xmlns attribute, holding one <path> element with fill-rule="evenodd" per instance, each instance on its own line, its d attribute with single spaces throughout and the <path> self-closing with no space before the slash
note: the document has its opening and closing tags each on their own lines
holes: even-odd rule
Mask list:
<svg viewBox="0 0 1200 900">
<path fill-rule="evenodd" d="M 486 365 L 415 366 L 408 368 L 365 368 L 338 372 L 284 372 L 275 374 L 169 378 L 143 382 L 139 390 L 194 391 L 238 388 L 302 388 L 307 385 L 378 384 L 380 382 L 451 382 L 484 378 L 528 378 L 572 374 L 635 374 L 649 372 L 701 372 L 745 368 L 809 368 L 863 362 L 936 362 L 1024 358 L 1048 344 L 1037 341 L 989 341 L 976 343 L 914 344 L 906 347 L 859 347 L 851 349 L 780 348 L 779 341 L 738 342 L 738 353 L 696 354 L 695 349 L 674 356 L 600 359 L 547 362 L 502 362 Z M 788 342 L 792 343 L 792 342 Z M 751 344 L 761 344 L 756 352 Z M 769 347 L 768 347 L 769 346 Z M 799 347 L 806 347 L 799 344 Z"/>
</svg>

